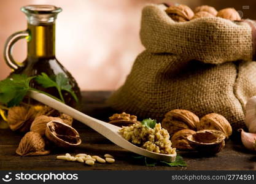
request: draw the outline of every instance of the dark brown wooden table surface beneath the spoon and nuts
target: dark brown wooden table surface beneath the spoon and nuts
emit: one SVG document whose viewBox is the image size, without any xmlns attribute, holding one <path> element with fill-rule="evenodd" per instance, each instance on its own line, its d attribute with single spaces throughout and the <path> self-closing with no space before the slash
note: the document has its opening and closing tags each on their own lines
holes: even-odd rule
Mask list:
<svg viewBox="0 0 256 184">
<path fill-rule="evenodd" d="M 83 92 L 83 112 L 101 120 L 114 113 L 107 107 L 105 100 L 111 93 L 108 91 Z M 21 134 L 0 129 L 0 170 L 255 170 L 256 154 L 245 150 L 240 142 L 229 140 L 216 156 L 204 157 L 195 151 L 178 151 L 187 163 L 187 167 L 155 166 L 149 167 L 133 158 L 133 154 L 93 131 L 80 122 L 74 122 L 74 128 L 82 137 L 82 144 L 75 150 L 63 151 L 59 148 L 47 156 L 25 156 L 15 154 L 22 137 Z M 56 155 L 66 152 L 71 154 L 88 153 L 103 156 L 114 155 L 114 164 L 85 166 L 82 163 L 56 160 Z"/>
</svg>

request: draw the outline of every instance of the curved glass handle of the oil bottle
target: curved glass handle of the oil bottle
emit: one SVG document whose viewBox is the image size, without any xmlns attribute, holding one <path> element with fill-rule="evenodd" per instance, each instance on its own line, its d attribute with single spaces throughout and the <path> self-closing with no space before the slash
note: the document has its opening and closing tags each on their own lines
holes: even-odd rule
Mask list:
<svg viewBox="0 0 256 184">
<path fill-rule="evenodd" d="M 6 64 L 14 70 L 17 70 L 19 67 L 23 66 L 23 64 L 16 62 L 12 57 L 12 47 L 18 40 L 26 38 L 27 36 L 29 36 L 28 31 L 18 31 L 9 36 L 4 45 L 4 59 L 6 60 Z"/>
</svg>

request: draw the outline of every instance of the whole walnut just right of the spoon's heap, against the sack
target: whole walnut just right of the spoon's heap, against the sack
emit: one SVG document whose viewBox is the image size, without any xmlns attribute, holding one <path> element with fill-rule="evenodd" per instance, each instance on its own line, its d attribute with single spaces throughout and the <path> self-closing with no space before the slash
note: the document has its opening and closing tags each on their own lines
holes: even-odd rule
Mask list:
<svg viewBox="0 0 256 184">
<path fill-rule="evenodd" d="M 197 123 L 199 123 L 199 118 L 193 112 L 183 109 L 174 109 L 165 114 L 161 125 L 170 135 L 173 135 L 181 129 L 196 130 Z"/>
</svg>

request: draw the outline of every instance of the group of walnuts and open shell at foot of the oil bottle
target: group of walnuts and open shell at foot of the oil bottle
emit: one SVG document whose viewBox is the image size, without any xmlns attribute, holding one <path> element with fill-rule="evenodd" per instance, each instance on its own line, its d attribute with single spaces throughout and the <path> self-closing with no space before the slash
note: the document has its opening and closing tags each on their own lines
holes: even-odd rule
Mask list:
<svg viewBox="0 0 256 184">
<path fill-rule="evenodd" d="M 69 115 L 43 105 L 11 107 L 7 116 L 12 131 L 26 133 L 16 150 L 20 156 L 47 155 L 47 146 L 52 144 L 64 148 L 79 145 L 81 139 L 72 121 Z"/>
</svg>

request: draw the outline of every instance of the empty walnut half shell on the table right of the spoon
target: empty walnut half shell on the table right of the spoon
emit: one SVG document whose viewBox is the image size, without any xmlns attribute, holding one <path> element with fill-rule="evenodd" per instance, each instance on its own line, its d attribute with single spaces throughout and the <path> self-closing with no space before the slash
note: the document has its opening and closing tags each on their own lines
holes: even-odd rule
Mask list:
<svg viewBox="0 0 256 184">
<path fill-rule="evenodd" d="M 225 147 L 225 135 L 217 130 L 197 131 L 189 135 L 187 140 L 192 148 L 205 155 L 214 155 Z"/>
</svg>

